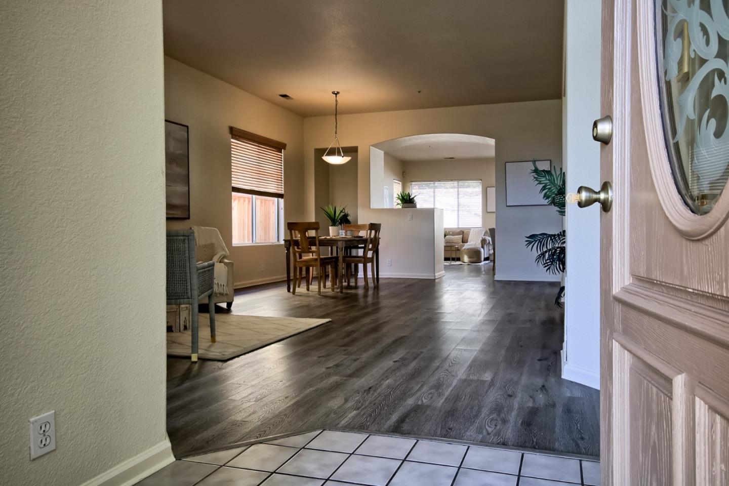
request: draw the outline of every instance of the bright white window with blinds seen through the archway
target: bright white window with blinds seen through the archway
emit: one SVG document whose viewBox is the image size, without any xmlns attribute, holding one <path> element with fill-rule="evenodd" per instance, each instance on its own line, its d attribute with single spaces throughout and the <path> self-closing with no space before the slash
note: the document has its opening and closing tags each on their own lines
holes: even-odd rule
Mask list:
<svg viewBox="0 0 729 486">
<path fill-rule="evenodd" d="M 443 209 L 447 228 L 482 224 L 481 181 L 412 181 L 410 193 L 416 195 L 418 208 Z"/>
</svg>

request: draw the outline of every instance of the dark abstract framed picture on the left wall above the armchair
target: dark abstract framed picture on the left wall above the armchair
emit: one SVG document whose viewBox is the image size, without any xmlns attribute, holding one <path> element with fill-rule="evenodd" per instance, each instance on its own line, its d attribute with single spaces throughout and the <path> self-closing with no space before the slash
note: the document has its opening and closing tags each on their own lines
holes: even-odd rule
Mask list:
<svg viewBox="0 0 729 486">
<path fill-rule="evenodd" d="M 165 119 L 166 215 L 190 219 L 190 128 Z"/>
</svg>

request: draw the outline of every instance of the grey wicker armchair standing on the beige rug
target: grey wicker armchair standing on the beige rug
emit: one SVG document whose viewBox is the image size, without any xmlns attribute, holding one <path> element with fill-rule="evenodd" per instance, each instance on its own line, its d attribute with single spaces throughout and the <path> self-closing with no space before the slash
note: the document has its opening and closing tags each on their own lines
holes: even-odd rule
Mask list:
<svg viewBox="0 0 729 486">
<path fill-rule="evenodd" d="M 198 361 L 198 301 L 202 297 L 208 297 L 210 341 L 215 342 L 214 270 L 215 262 L 196 263 L 192 230 L 167 232 L 167 305 L 190 305 L 193 362 Z"/>
</svg>

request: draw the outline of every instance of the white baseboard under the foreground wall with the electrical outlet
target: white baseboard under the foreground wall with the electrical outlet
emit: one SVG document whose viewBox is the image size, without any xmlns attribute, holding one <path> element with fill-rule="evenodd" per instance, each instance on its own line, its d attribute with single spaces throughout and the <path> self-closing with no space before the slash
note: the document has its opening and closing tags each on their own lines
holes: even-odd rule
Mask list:
<svg viewBox="0 0 729 486">
<path fill-rule="evenodd" d="M 172 444 L 165 439 L 141 454 L 117 464 L 81 486 L 131 486 L 174 462 Z"/>
</svg>

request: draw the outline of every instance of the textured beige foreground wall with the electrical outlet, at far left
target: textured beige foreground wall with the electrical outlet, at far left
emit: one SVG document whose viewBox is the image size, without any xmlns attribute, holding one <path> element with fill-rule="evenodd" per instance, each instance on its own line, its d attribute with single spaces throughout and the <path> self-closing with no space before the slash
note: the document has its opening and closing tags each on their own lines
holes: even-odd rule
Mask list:
<svg viewBox="0 0 729 486">
<path fill-rule="evenodd" d="M 6 0 L 0 45 L 0 483 L 79 485 L 167 441 L 162 6 Z"/>
</svg>

